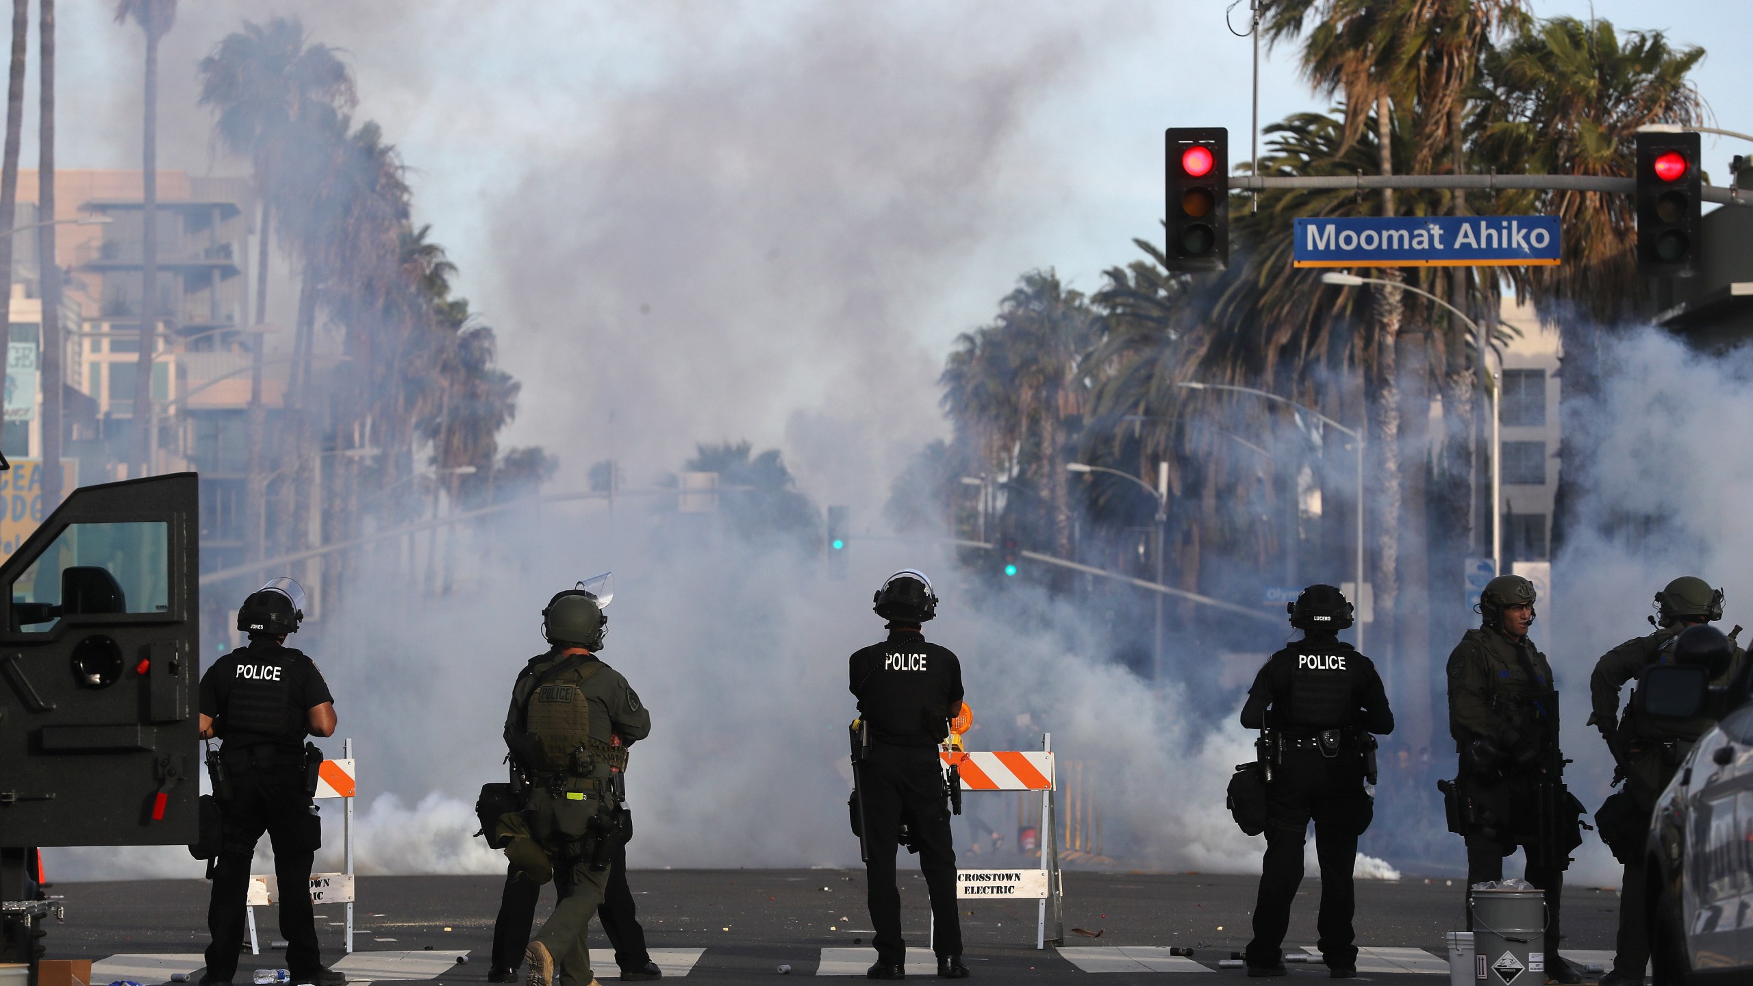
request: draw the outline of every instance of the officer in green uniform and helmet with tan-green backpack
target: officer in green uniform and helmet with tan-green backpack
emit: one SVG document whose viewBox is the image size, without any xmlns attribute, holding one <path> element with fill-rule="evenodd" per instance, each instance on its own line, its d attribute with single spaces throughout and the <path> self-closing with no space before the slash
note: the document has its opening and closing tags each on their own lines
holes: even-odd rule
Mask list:
<svg viewBox="0 0 1753 986">
<path fill-rule="evenodd" d="M 505 744 L 531 779 L 524 811 L 501 816 L 507 858 L 538 884 L 549 868 L 559 904 L 524 953 L 528 986 L 586 986 L 591 953 L 586 932 L 603 904 L 614 858 L 621 774 L 628 746 L 650 733 L 650 712 L 621 677 L 596 658 L 603 649 L 598 597 L 568 589 L 542 611 L 552 647 L 517 675 L 505 718 Z"/>
</svg>

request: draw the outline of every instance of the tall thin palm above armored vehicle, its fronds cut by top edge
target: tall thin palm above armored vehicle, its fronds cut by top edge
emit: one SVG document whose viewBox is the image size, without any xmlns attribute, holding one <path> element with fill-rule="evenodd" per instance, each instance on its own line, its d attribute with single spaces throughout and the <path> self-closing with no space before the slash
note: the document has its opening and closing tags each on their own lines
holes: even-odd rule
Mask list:
<svg viewBox="0 0 1753 986">
<path fill-rule="evenodd" d="M 116 4 L 116 23 L 133 19 L 145 32 L 145 111 L 144 137 L 140 140 L 140 182 L 142 182 L 142 218 L 140 218 L 140 360 L 135 365 L 133 423 L 135 451 L 133 475 L 145 475 L 153 468 L 153 432 L 158 430 L 156 405 L 153 404 L 153 358 L 158 349 L 158 42 L 170 32 L 177 19 L 177 0 L 119 0 Z"/>
</svg>

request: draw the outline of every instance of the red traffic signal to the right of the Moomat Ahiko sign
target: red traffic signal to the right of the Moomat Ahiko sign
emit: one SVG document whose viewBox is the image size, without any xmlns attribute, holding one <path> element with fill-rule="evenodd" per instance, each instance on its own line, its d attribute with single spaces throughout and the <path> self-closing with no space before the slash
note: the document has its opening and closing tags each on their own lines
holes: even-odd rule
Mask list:
<svg viewBox="0 0 1753 986">
<path fill-rule="evenodd" d="M 1637 135 L 1637 270 L 1644 277 L 1697 272 L 1702 186 L 1697 133 Z"/>
</svg>

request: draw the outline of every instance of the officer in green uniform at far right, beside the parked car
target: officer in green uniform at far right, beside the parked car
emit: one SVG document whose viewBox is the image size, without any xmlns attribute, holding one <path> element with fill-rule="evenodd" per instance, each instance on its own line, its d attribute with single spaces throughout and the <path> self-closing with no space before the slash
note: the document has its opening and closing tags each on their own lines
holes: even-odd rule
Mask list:
<svg viewBox="0 0 1753 986">
<path fill-rule="evenodd" d="M 1632 637 L 1613 647 L 1595 663 L 1588 679 L 1593 700 L 1592 726 L 1608 740 L 1618 765 L 1613 782 L 1625 788 L 1608 797 L 1595 814 L 1600 840 L 1625 865 L 1620 884 L 1620 930 L 1613 958 L 1613 972 L 1600 979 L 1604 986 L 1643 982 L 1650 963 L 1650 928 L 1644 907 L 1644 839 L 1655 802 L 1674 779 L 1679 761 L 1692 751 L 1714 718 L 1688 721 L 1651 719 L 1637 714 L 1637 702 L 1627 702 L 1625 714 L 1616 716 L 1620 688 L 1653 665 L 1704 665 L 1711 668 L 1714 684 L 1727 684 L 1739 667 L 1741 651 L 1734 633 L 1723 635 L 1709 623 L 1723 618 L 1723 591 L 1713 589 L 1697 575 L 1683 575 L 1655 595 L 1657 616 L 1650 623 L 1655 633 Z M 1741 628 L 1735 628 L 1739 633 Z"/>
</svg>

